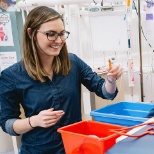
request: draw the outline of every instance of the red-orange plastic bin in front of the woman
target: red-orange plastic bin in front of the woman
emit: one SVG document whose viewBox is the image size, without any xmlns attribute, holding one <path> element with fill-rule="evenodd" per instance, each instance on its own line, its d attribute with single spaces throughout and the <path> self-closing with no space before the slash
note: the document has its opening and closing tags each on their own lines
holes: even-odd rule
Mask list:
<svg viewBox="0 0 154 154">
<path fill-rule="evenodd" d="M 81 121 L 58 129 L 67 154 L 104 154 L 119 135 L 110 129 L 126 128 L 96 121 Z"/>
</svg>

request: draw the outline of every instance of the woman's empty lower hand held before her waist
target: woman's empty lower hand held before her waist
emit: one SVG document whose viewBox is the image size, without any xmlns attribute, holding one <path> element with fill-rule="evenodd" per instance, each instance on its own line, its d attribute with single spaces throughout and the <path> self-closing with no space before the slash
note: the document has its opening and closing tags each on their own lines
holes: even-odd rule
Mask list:
<svg viewBox="0 0 154 154">
<path fill-rule="evenodd" d="M 30 118 L 33 127 L 48 128 L 57 123 L 57 121 L 64 115 L 63 110 L 54 111 L 53 108 L 41 111 L 38 115 Z"/>
</svg>

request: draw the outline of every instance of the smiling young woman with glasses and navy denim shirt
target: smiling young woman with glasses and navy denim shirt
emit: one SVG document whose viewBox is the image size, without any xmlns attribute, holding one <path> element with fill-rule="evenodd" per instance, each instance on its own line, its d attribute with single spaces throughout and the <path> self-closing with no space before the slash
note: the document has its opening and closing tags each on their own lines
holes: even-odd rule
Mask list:
<svg viewBox="0 0 154 154">
<path fill-rule="evenodd" d="M 103 99 L 117 95 L 115 65 L 98 76 L 78 56 L 68 53 L 69 37 L 62 16 L 41 6 L 33 9 L 24 25 L 22 60 L 0 77 L 2 128 L 10 135 L 22 134 L 21 154 L 64 154 L 57 129 L 81 121 L 81 84 Z M 20 104 L 25 119 L 20 119 Z"/>
</svg>

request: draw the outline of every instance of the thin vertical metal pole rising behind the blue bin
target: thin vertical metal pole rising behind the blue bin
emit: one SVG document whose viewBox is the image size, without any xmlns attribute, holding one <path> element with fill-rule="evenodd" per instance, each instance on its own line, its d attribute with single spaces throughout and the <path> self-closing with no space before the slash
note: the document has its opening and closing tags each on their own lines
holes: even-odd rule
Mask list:
<svg viewBox="0 0 154 154">
<path fill-rule="evenodd" d="M 140 0 L 138 0 L 138 30 L 139 30 L 139 51 L 140 51 L 140 86 L 141 86 L 141 102 L 144 101 L 143 95 L 143 70 L 142 70 L 142 38 L 141 38 L 141 13 Z"/>
</svg>

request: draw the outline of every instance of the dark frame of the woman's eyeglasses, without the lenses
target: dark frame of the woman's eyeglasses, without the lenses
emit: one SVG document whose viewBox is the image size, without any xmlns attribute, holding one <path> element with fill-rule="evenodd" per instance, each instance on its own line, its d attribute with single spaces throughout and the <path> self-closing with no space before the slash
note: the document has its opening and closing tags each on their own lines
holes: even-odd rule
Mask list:
<svg viewBox="0 0 154 154">
<path fill-rule="evenodd" d="M 60 33 L 57 33 L 57 32 L 55 32 L 55 31 L 41 31 L 41 30 L 37 30 L 38 32 L 40 32 L 40 33 L 42 33 L 42 34 L 44 34 L 44 35 L 46 35 L 47 36 L 47 39 L 49 40 L 49 41 L 55 41 L 55 40 L 57 40 L 57 38 L 58 38 L 58 36 L 60 37 L 60 39 L 62 40 L 62 41 L 65 41 L 66 39 L 68 39 L 68 37 L 69 37 L 69 35 L 70 35 L 70 32 L 68 32 L 68 31 L 62 31 L 62 32 L 60 32 Z M 55 37 L 55 39 L 53 39 L 53 40 L 50 40 L 48 37 L 49 37 L 49 33 L 55 33 L 55 34 L 57 34 L 56 35 L 56 37 Z M 67 38 L 65 38 L 65 39 L 62 39 L 61 38 L 61 35 L 62 35 L 62 33 L 67 33 L 68 34 L 68 36 L 67 36 Z"/>
</svg>

